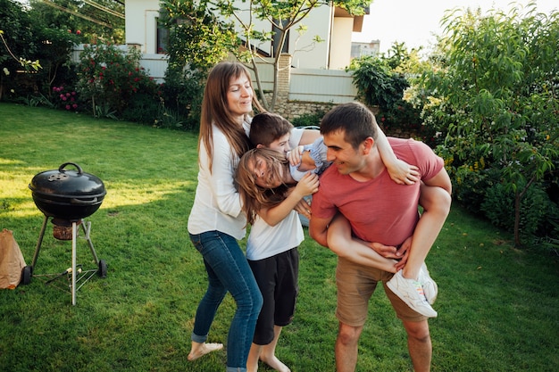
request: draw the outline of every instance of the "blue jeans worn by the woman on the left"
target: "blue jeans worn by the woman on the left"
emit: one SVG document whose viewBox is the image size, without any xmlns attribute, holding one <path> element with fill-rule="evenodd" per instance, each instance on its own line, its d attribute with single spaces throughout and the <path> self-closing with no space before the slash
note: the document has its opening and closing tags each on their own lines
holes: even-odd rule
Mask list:
<svg viewBox="0 0 559 372">
<path fill-rule="evenodd" d="M 234 237 L 207 231 L 190 234 L 190 240 L 202 253 L 208 274 L 208 288 L 196 310 L 192 341 L 205 342 L 215 312 L 229 291 L 237 302 L 237 310 L 227 336 L 227 371 L 245 372 L 256 319 L 263 304 L 253 272 Z"/>
</svg>

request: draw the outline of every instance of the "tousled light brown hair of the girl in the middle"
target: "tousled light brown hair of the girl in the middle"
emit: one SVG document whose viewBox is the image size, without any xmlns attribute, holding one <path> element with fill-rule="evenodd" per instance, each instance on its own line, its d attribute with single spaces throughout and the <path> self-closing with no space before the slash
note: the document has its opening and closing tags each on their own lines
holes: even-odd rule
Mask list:
<svg viewBox="0 0 559 372">
<path fill-rule="evenodd" d="M 273 173 L 273 178 L 280 178 L 280 167 L 285 167 L 286 171 L 289 171 L 289 161 L 285 155 L 271 149 L 252 149 L 241 157 L 238 162 L 235 181 L 248 224 L 254 223 L 258 211 L 263 208 L 274 207 L 283 202 L 288 196 L 288 185 L 283 184 L 275 188 L 265 188 L 256 185 L 254 164 L 257 158 L 260 158 L 267 164 L 267 168 Z"/>
</svg>

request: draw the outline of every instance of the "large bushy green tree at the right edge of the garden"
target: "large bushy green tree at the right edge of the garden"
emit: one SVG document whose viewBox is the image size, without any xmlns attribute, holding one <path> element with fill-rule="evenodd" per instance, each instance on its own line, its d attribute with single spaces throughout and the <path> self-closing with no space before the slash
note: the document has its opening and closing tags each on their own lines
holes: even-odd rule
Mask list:
<svg viewBox="0 0 559 372">
<path fill-rule="evenodd" d="M 430 120 L 447 128 L 444 152 L 458 197 L 476 194 L 481 207 L 488 188 L 513 194 L 517 245 L 522 221 L 537 212 L 523 201 L 544 181 L 556 185 L 559 164 L 559 12 L 525 10 L 446 14 L 444 63 L 423 80 L 436 102 Z"/>
</svg>

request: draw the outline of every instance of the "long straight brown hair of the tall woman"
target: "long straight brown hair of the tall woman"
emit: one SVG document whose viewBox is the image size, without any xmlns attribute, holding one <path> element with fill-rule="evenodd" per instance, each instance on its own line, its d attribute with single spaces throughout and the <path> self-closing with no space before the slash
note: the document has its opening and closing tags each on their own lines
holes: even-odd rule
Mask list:
<svg viewBox="0 0 559 372">
<path fill-rule="evenodd" d="M 250 86 L 253 87 L 250 72 L 246 69 L 245 65 L 239 62 L 220 62 L 213 67 L 208 75 L 204 88 L 204 99 L 202 100 L 202 112 L 200 114 L 198 153 L 200 153 L 201 143 L 204 143 L 205 151 L 210 160 L 210 172 L 212 172 L 213 164 L 213 125 L 220 128 L 238 157 L 241 157 L 251 147 L 245 129 L 231 115 L 227 103 L 229 82 L 231 79 L 236 79 L 243 75 L 246 76 Z M 253 96 L 253 107 L 259 112 L 264 111 L 255 95 Z"/>
</svg>

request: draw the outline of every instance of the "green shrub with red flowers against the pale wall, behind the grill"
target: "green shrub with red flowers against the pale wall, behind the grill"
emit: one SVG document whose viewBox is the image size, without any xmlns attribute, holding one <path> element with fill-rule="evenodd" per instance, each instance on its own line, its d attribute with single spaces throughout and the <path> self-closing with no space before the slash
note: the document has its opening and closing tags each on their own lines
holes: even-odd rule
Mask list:
<svg viewBox="0 0 559 372">
<path fill-rule="evenodd" d="M 139 51 L 115 45 L 86 45 L 79 57 L 78 92 L 91 104 L 94 116 L 120 116 L 137 95 L 159 102 L 159 86 L 139 66 Z M 104 115 L 106 116 L 106 115 Z"/>
</svg>

